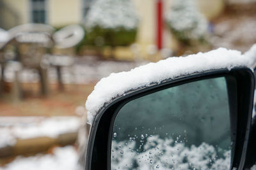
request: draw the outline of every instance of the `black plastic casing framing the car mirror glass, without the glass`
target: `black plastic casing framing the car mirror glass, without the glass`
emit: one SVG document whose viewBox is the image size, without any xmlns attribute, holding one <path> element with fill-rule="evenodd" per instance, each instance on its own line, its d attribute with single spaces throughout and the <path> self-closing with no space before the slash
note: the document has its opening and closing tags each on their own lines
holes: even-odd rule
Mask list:
<svg viewBox="0 0 256 170">
<path fill-rule="evenodd" d="M 90 128 L 86 150 L 86 170 L 111 169 L 110 150 L 113 122 L 118 111 L 125 103 L 169 87 L 220 76 L 225 76 L 227 81 L 231 139 L 234 141 L 230 169 L 233 167 L 243 169 L 244 162 L 246 162 L 246 150 L 250 134 L 255 81 L 252 71 L 247 67 L 236 67 L 231 70 L 218 69 L 179 76 L 172 80 L 152 83 L 148 87 L 126 92 L 125 96 L 116 97 L 111 103 L 104 104 L 104 107 L 93 119 Z"/>
</svg>

